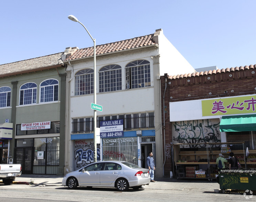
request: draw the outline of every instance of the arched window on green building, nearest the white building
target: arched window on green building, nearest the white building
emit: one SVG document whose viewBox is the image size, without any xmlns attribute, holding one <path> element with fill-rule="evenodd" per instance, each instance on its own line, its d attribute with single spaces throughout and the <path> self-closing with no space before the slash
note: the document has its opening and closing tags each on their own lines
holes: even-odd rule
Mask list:
<svg viewBox="0 0 256 202">
<path fill-rule="evenodd" d="M 58 80 L 48 79 L 40 84 L 40 102 L 58 101 Z"/>
</svg>

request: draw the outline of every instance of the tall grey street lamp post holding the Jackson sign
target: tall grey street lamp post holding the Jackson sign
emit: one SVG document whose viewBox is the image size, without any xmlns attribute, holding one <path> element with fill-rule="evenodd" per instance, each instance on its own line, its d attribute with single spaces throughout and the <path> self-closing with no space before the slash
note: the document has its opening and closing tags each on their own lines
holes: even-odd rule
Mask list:
<svg viewBox="0 0 256 202">
<path fill-rule="evenodd" d="M 77 18 L 74 15 L 68 15 L 68 19 L 74 21 L 74 22 L 79 22 L 77 20 Z M 92 37 L 92 35 L 90 35 L 90 33 L 88 32 L 88 30 L 86 29 L 86 27 L 79 22 L 84 29 L 86 30 L 86 32 L 89 34 L 89 36 L 92 38 L 93 40 L 93 44 L 94 44 L 94 104 L 96 104 L 96 45 L 95 45 L 95 38 Z M 94 110 L 94 131 L 93 131 L 93 140 L 94 140 L 94 162 L 97 162 L 97 141 L 96 141 L 96 128 L 97 128 L 97 112 L 96 110 Z"/>
</svg>

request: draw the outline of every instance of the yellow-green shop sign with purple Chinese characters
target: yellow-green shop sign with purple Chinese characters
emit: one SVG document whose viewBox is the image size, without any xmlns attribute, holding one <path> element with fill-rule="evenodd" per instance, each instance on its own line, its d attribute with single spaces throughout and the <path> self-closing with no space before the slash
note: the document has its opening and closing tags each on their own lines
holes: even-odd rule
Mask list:
<svg viewBox="0 0 256 202">
<path fill-rule="evenodd" d="M 256 96 L 202 100 L 202 115 L 255 113 Z"/>
</svg>

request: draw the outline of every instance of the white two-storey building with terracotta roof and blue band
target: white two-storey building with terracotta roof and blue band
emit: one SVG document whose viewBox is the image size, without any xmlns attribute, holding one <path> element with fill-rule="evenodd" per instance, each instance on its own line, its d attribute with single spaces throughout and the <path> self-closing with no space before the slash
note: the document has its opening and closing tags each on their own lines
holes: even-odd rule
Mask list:
<svg viewBox="0 0 256 202">
<path fill-rule="evenodd" d="M 65 171 L 94 160 L 93 47 L 67 48 Z M 179 65 L 179 68 L 177 68 Z M 156 175 L 163 176 L 160 75 L 194 72 L 192 66 L 156 30 L 154 34 L 96 46 L 97 127 L 120 121 L 122 132 L 101 134 L 98 160 L 125 160 L 146 167 L 152 151 Z M 104 136 L 105 135 L 105 136 Z"/>
</svg>

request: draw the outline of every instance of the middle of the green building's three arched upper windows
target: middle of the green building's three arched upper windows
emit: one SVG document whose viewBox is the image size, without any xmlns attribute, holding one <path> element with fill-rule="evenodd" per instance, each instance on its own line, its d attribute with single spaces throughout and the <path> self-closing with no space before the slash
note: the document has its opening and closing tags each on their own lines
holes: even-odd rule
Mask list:
<svg viewBox="0 0 256 202">
<path fill-rule="evenodd" d="M 20 87 L 20 105 L 36 103 L 35 83 L 25 83 Z"/>
</svg>

